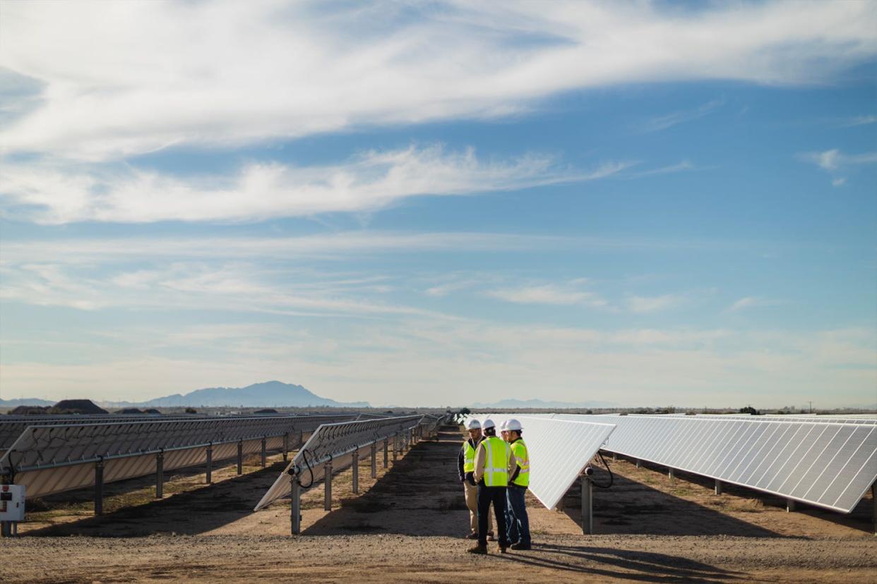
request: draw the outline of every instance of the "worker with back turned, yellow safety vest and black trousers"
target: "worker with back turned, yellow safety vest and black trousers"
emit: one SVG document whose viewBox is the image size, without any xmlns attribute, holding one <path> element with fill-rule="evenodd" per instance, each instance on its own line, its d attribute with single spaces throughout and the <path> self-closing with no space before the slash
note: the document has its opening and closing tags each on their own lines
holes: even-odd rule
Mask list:
<svg viewBox="0 0 877 584">
<path fill-rule="evenodd" d="M 505 527 L 505 491 L 510 475 L 517 468 L 517 461 L 509 444 L 496 436 L 496 424 L 492 419 L 484 420 L 481 431 L 485 437 L 475 449 L 475 470 L 472 475 L 473 482 L 478 485 L 478 544 L 467 551 L 488 552 L 488 514 L 493 503 L 496 529 L 499 531 L 499 551 L 505 553 L 509 548 Z"/>
</svg>

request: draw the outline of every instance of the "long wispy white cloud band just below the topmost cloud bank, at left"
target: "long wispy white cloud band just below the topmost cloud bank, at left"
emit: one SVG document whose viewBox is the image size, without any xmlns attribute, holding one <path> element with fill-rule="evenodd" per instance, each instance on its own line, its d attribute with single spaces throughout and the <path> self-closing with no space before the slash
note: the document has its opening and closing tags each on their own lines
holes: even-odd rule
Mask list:
<svg viewBox="0 0 877 584">
<path fill-rule="evenodd" d="M 627 166 L 590 172 L 560 168 L 551 157 L 485 161 L 472 149 L 441 146 L 368 151 L 346 164 L 247 165 L 232 177 L 180 179 L 160 172 L 61 171 L 4 165 L 7 215 L 40 223 L 259 221 L 332 212 L 366 212 L 420 195 L 465 195 L 602 179 Z"/>
</svg>

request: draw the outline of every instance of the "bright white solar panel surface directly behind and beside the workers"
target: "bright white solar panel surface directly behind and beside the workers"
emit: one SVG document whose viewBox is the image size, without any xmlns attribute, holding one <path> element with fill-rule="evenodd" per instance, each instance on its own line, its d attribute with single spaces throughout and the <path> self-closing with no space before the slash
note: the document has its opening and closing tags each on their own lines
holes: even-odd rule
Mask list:
<svg viewBox="0 0 877 584">
<path fill-rule="evenodd" d="M 550 415 L 495 413 L 475 418 L 492 419 L 497 428 L 507 419 L 521 422 L 530 456 L 530 491 L 548 509 L 557 505 L 615 429 L 604 422 L 552 419 Z"/>
</svg>

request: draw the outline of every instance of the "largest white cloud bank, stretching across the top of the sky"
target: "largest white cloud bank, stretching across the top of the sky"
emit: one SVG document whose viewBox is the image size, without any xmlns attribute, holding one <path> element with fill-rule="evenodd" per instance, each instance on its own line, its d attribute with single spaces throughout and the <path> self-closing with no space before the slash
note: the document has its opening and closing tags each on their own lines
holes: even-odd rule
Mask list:
<svg viewBox="0 0 877 584">
<path fill-rule="evenodd" d="M 105 160 L 503 116 L 573 88 L 822 82 L 873 59 L 875 28 L 870 3 L 5 3 L 0 67 L 43 88 L 9 104 L 25 113 L 0 144 Z"/>
</svg>

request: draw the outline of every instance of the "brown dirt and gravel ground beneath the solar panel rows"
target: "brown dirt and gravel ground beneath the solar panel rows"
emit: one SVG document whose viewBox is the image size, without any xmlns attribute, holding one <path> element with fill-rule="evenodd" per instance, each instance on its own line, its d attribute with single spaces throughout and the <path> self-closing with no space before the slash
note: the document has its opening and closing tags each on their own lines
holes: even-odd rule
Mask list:
<svg viewBox="0 0 877 584">
<path fill-rule="evenodd" d="M 447 428 L 389 468 L 379 451 L 377 478 L 360 461 L 360 494 L 348 469 L 333 480 L 332 511 L 321 485 L 303 496 L 303 533 L 289 536 L 289 501 L 253 506 L 283 468 L 247 461 L 168 474 L 165 498 L 151 477 L 106 486 L 103 517 L 91 515 L 89 490 L 32 505 L 17 539 L 0 540 L 6 582 L 322 580 L 877 582 L 871 501 L 851 516 L 813 508 L 787 513 L 784 502 L 754 491 L 664 469 L 609 461 L 610 489 L 596 489 L 595 533 L 581 535 L 580 493 L 563 510 L 528 502 L 531 551 L 487 557 L 465 552 L 468 511 L 456 476 L 462 435 Z M 595 480 L 608 482 L 605 471 Z M 497 563 L 499 562 L 499 563 Z M 503 570 L 503 573 L 497 572 Z"/>
</svg>

